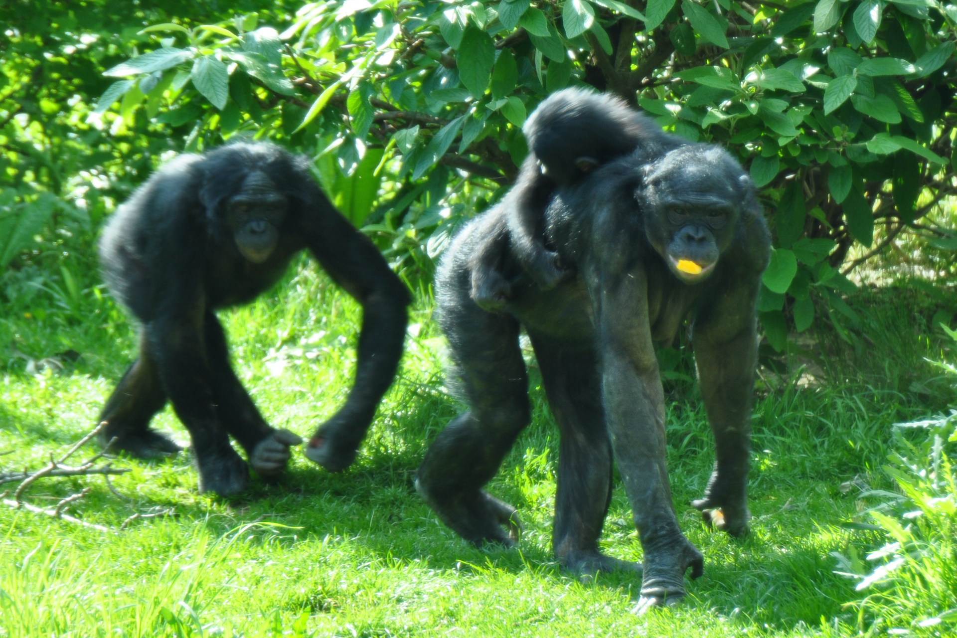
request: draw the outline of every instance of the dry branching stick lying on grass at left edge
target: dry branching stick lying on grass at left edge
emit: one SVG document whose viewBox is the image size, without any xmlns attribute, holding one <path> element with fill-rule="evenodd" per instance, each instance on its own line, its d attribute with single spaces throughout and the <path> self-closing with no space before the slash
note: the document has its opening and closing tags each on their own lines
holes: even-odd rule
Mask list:
<svg viewBox="0 0 957 638">
<path fill-rule="evenodd" d="M 66 451 L 59 459 L 55 459 L 53 453 L 50 454 L 50 465 L 47 467 L 37 470 L 36 472 L 29 472 L 24 470 L 23 472 L 4 472 L 0 473 L 0 484 L 2 483 L 11 483 L 15 481 L 20 481 L 20 484 L 17 486 L 16 491 L 13 493 L 13 498 L 4 498 L 3 504 L 11 507 L 13 509 L 25 509 L 34 514 L 42 514 L 48 517 L 59 518 L 60 520 L 66 520 L 71 523 L 76 523 L 82 525 L 83 527 L 89 527 L 91 529 L 99 530 L 100 532 L 110 532 L 108 527 L 102 525 L 95 525 L 93 523 L 88 523 L 86 521 L 80 520 L 76 517 L 71 517 L 66 514 L 63 514 L 63 511 L 71 503 L 77 502 L 80 498 L 90 493 L 90 488 L 83 488 L 80 492 L 75 495 L 69 495 L 66 498 L 62 499 L 53 509 L 50 508 L 41 508 L 31 505 L 30 503 L 25 503 L 23 501 L 23 496 L 26 495 L 27 491 L 33 486 L 40 478 L 46 476 L 85 476 L 90 474 L 103 474 L 104 479 L 107 479 L 108 474 L 122 474 L 129 472 L 128 468 L 113 468 L 111 463 L 106 463 L 99 467 L 95 467 L 97 461 L 102 458 L 103 454 L 109 450 L 110 445 L 113 444 L 113 441 L 110 441 L 103 451 L 91 456 L 82 464 L 77 467 L 71 467 L 68 465 L 63 465 L 67 459 L 69 459 L 76 451 L 78 451 L 86 442 L 96 436 L 101 429 L 106 426 L 105 423 L 101 423 L 96 429 L 93 429 L 89 434 L 81 438 L 76 444 L 73 445 L 70 450 Z M 115 439 L 114 439 L 115 440 Z M 110 486 L 112 490 L 112 486 Z M 3 495 L 6 496 L 10 494 L 9 491 L 4 492 Z"/>
</svg>

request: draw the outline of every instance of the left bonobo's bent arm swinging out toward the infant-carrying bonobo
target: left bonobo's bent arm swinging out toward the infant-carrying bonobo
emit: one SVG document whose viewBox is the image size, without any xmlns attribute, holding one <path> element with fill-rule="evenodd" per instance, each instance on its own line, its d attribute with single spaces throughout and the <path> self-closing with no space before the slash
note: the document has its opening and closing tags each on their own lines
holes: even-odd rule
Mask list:
<svg viewBox="0 0 957 638">
<path fill-rule="evenodd" d="M 345 406 L 309 442 L 306 456 L 326 470 L 345 470 L 355 459 L 382 396 L 389 389 L 405 339 L 409 291 L 379 249 L 319 192 L 300 215 L 306 245 L 332 279 L 363 307 L 355 382 Z"/>
</svg>

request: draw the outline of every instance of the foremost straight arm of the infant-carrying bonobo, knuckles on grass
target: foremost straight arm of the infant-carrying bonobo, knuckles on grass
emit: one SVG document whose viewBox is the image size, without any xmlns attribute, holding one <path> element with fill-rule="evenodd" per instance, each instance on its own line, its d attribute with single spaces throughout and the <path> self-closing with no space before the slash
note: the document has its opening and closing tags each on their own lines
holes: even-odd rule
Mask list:
<svg viewBox="0 0 957 638">
<path fill-rule="evenodd" d="M 606 249 L 605 254 L 617 253 L 613 245 Z M 619 254 L 627 254 L 625 250 Z M 702 557 L 681 533 L 672 504 L 646 273 L 640 263 L 620 266 L 599 264 L 586 275 L 595 310 L 602 395 L 615 461 L 644 548 L 639 606 L 672 604 L 684 595 L 685 570 L 691 567 L 692 578 L 701 575 Z"/>
</svg>

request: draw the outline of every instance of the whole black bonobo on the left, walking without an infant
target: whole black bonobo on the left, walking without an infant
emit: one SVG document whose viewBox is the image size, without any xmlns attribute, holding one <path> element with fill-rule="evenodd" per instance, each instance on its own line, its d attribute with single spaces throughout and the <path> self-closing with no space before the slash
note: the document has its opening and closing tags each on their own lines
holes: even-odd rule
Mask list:
<svg viewBox="0 0 957 638">
<path fill-rule="evenodd" d="M 409 294 L 306 162 L 264 143 L 183 155 L 114 215 L 100 240 L 103 276 L 142 329 L 140 357 L 100 415 L 102 442 L 116 437 L 115 449 L 142 457 L 179 451 L 148 427 L 169 399 L 189 429 L 201 492 L 246 487 L 249 471 L 230 436 L 257 473 L 280 472 L 301 439 L 260 416 L 230 366 L 214 311 L 252 301 L 309 249 L 362 304 L 363 326 L 345 406 L 316 431 L 306 456 L 331 471 L 355 458 L 402 355 Z"/>
</svg>

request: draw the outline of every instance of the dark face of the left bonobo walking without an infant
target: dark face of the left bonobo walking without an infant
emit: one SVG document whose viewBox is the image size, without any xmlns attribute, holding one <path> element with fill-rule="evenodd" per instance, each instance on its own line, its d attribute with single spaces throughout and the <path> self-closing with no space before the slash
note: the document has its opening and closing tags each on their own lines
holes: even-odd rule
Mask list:
<svg viewBox="0 0 957 638">
<path fill-rule="evenodd" d="M 226 202 L 226 226 L 236 248 L 247 260 L 261 264 L 276 249 L 279 226 L 289 202 L 261 172 L 251 172 L 239 191 Z"/>
</svg>

